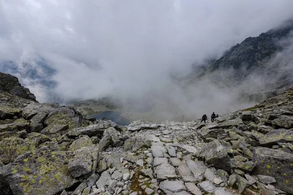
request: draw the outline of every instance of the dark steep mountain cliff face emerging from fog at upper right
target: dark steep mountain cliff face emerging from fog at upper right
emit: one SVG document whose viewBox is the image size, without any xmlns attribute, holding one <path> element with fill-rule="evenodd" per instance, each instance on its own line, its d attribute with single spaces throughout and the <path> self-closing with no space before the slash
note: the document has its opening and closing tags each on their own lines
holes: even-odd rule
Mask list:
<svg viewBox="0 0 293 195">
<path fill-rule="evenodd" d="M 249 37 L 210 64 L 211 70 L 233 68 L 240 71 L 243 66 L 248 70 L 262 67 L 273 54 L 284 49 L 278 41 L 286 38 L 292 30 L 293 23 L 290 23 L 279 29 L 271 29 L 258 37 Z"/>
</svg>

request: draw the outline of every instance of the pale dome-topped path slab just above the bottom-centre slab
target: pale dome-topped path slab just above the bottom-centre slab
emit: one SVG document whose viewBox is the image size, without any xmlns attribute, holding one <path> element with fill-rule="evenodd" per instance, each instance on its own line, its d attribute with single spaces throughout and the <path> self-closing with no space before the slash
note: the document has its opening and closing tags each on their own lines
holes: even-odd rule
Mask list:
<svg viewBox="0 0 293 195">
<path fill-rule="evenodd" d="M 164 162 L 163 164 L 159 165 L 155 170 L 155 174 L 157 175 L 157 179 L 159 180 L 177 178 L 175 168 L 167 162 Z"/>
</svg>

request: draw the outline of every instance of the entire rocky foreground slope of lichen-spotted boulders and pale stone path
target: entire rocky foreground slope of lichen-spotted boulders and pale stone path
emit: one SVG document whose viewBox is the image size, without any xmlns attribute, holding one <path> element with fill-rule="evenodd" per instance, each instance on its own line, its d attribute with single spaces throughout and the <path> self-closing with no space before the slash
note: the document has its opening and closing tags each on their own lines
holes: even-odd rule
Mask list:
<svg viewBox="0 0 293 195">
<path fill-rule="evenodd" d="M 119 126 L 0 86 L 0 195 L 293 194 L 293 89 L 213 123 Z"/>
</svg>

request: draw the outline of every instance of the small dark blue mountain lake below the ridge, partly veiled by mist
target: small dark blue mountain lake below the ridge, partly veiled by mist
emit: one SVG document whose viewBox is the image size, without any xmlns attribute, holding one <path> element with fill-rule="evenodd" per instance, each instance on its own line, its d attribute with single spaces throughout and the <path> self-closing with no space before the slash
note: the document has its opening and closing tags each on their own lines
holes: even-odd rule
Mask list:
<svg viewBox="0 0 293 195">
<path fill-rule="evenodd" d="M 107 117 L 105 120 L 111 120 L 119 125 L 129 125 L 130 120 L 126 117 L 122 117 L 120 113 L 113 112 L 113 111 L 105 111 L 103 113 L 97 114 L 97 115 L 91 115 L 90 117 L 95 117 L 100 119 L 101 117 Z"/>
</svg>

